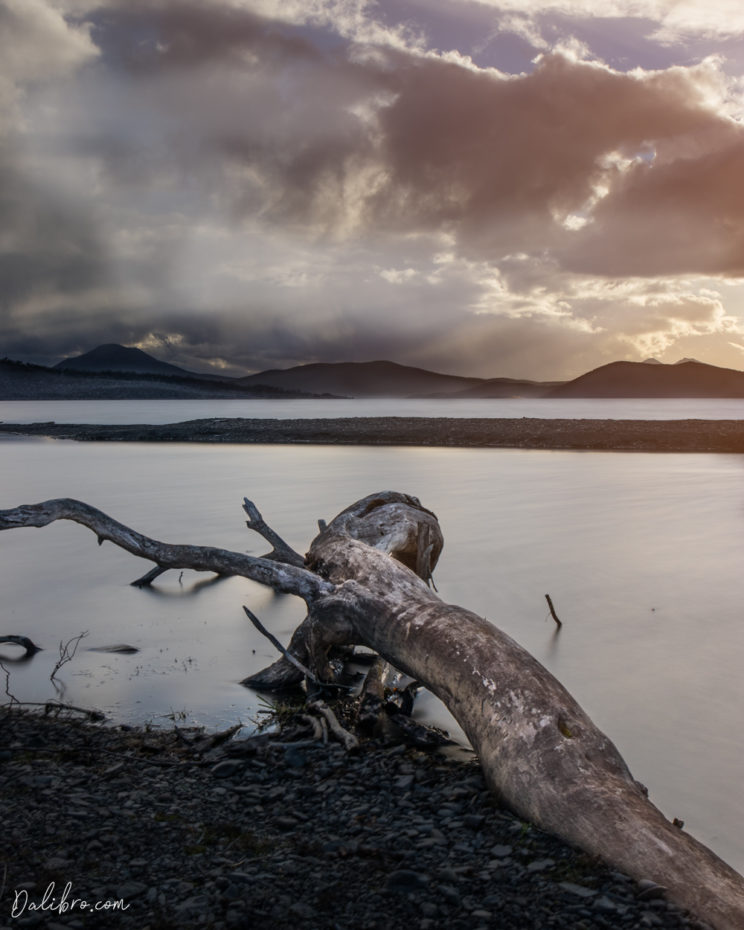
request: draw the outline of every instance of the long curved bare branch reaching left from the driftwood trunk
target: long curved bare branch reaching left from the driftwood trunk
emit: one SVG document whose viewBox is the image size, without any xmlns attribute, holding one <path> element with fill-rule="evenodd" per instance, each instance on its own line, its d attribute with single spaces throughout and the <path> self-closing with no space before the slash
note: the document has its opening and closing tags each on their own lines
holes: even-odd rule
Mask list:
<svg viewBox="0 0 744 930">
<path fill-rule="evenodd" d="M 283 594 L 296 594 L 311 603 L 333 591 L 333 585 L 313 572 L 270 559 L 256 558 L 211 546 L 183 546 L 159 542 L 130 529 L 101 510 L 71 498 L 26 504 L 0 511 L 0 530 L 23 526 L 47 526 L 55 520 L 72 520 L 88 527 L 99 541 L 110 540 L 132 555 L 163 569 L 191 568 L 218 575 L 241 575 Z"/>
</svg>

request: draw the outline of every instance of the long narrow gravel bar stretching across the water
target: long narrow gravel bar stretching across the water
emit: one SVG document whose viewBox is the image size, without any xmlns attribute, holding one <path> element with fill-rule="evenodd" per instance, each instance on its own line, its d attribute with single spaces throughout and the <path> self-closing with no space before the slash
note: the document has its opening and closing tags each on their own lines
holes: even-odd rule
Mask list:
<svg viewBox="0 0 744 930">
<path fill-rule="evenodd" d="M 539 418 L 209 418 L 163 425 L 2 423 L 0 438 L 77 442 L 199 442 L 431 446 L 614 452 L 744 453 L 744 420 Z"/>
</svg>

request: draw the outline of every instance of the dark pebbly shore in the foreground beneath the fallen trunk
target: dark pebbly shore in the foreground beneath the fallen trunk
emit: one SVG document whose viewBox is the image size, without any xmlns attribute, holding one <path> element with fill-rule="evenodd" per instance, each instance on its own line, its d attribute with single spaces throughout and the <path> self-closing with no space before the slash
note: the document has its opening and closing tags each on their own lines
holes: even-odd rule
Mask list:
<svg viewBox="0 0 744 930">
<path fill-rule="evenodd" d="M 475 761 L 310 736 L 6 706 L 0 927 L 706 927 L 500 808 Z"/>
</svg>

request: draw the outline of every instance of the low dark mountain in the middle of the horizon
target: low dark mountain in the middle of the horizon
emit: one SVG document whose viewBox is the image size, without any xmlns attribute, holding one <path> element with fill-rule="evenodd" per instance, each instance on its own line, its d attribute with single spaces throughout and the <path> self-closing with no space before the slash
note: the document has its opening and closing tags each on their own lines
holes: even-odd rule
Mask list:
<svg viewBox="0 0 744 930">
<path fill-rule="evenodd" d="M 483 378 L 442 375 L 395 362 L 314 362 L 272 369 L 238 379 L 241 384 L 344 394 L 352 397 L 421 397 L 450 395 L 481 384 Z"/>
</svg>

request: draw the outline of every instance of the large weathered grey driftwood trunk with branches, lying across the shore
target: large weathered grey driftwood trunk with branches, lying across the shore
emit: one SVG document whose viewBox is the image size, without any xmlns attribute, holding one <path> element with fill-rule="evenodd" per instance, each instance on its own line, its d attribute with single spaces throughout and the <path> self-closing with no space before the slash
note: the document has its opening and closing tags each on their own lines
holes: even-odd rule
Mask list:
<svg viewBox="0 0 744 930">
<path fill-rule="evenodd" d="M 358 501 L 322 527 L 302 566 L 252 505 L 246 511 L 272 546 L 268 557 L 157 542 L 71 500 L 0 511 L 0 529 L 74 520 L 159 569 L 243 575 L 301 597 L 307 617 L 288 649 L 319 680 L 331 680 L 332 647 L 372 649 L 443 700 L 489 786 L 519 816 L 663 886 L 717 930 L 744 927 L 744 878 L 661 814 L 610 739 L 536 659 L 429 588 L 442 534 L 416 498 L 382 492 Z M 281 685 L 302 674 L 282 656 L 246 682 Z"/>
</svg>

